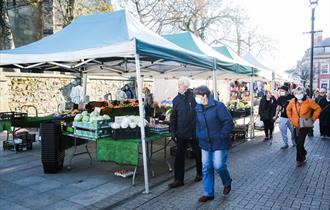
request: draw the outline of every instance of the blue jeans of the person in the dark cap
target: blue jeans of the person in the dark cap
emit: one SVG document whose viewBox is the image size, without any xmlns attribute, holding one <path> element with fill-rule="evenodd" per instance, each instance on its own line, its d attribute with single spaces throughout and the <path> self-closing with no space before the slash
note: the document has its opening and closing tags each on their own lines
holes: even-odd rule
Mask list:
<svg viewBox="0 0 330 210">
<path fill-rule="evenodd" d="M 206 151 L 202 149 L 204 195 L 214 196 L 214 171 L 220 176 L 225 187 L 231 185 L 227 169 L 228 150 Z"/>
</svg>

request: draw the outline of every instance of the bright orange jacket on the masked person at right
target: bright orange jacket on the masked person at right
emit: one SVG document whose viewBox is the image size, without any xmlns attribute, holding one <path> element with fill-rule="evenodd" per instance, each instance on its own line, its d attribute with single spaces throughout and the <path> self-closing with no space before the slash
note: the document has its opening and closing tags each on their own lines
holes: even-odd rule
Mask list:
<svg viewBox="0 0 330 210">
<path fill-rule="evenodd" d="M 288 118 L 291 120 L 293 127 L 299 127 L 299 116 L 297 110 L 300 110 L 300 118 L 308 119 L 313 117 L 314 122 L 317 118 L 319 118 L 322 111 L 321 107 L 312 99 L 308 98 L 303 100 L 302 103 L 298 103 L 295 98 L 291 99 L 288 107 L 286 108 L 286 113 Z"/>
</svg>

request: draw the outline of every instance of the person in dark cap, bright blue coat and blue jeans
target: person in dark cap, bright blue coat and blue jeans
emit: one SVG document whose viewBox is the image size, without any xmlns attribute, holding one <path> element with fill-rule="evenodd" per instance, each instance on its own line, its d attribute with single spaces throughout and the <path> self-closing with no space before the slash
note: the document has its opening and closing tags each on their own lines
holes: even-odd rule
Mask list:
<svg viewBox="0 0 330 210">
<path fill-rule="evenodd" d="M 196 100 L 196 135 L 202 149 L 204 194 L 199 202 L 214 199 L 214 171 L 224 185 L 223 194 L 231 191 L 232 179 L 227 168 L 230 133 L 234 123 L 227 107 L 211 95 L 206 86 L 194 90 Z"/>
</svg>

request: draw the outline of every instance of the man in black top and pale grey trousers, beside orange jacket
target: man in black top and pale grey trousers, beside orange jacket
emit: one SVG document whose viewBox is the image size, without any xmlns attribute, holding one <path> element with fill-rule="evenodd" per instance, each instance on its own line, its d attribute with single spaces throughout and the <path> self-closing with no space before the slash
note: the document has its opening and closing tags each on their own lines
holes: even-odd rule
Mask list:
<svg viewBox="0 0 330 210">
<path fill-rule="evenodd" d="M 281 149 L 287 149 L 289 147 L 288 145 L 288 129 L 291 132 L 291 141 L 292 146 L 296 146 L 295 140 L 294 140 L 294 134 L 293 134 L 293 126 L 288 119 L 286 108 L 292 98 L 294 98 L 293 95 L 289 94 L 288 92 L 289 88 L 287 86 L 282 86 L 280 88 L 280 97 L 277 100 L 277 108 L 276 108 L 276 114 L 274 117 L 274 120 L 276 120 L 278 114 L 280 113 L 280 119 L 279 119 L 279 128 L 282 136 L 282 140 L 284 145 L 281 147 Z"/>
</svg>

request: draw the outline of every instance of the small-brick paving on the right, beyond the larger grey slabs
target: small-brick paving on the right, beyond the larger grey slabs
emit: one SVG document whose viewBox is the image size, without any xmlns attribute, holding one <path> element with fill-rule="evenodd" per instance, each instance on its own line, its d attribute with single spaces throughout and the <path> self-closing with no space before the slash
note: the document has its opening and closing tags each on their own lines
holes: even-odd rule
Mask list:
<svg viewBox="0 0 330 210">
<path fill-rule="evenodd" d="M 152 193 L 134 197 L 115 209 L 330 209 L 330 139 L 307 138 L 307 163 L 295 166 L 295 148 L 281 150 L 279 133 L 273 144 L 255 140 L 233 148 L 229 157 L 232 192 L 221 195 L 216 178 L 215 200 L 200 204 L 202 184 L 193 183 L 194 170 L 186 184 L 168 189 L 169 180 Z"/>
</svg>

